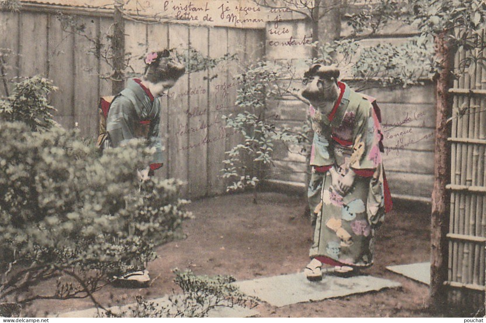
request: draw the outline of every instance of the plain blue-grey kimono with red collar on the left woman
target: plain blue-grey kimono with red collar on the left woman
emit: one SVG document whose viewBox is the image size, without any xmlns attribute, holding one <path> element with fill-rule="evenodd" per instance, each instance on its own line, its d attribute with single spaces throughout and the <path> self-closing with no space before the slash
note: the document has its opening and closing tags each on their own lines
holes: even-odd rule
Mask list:
<svg viewBox="0 0 486 323">
<path fill-rule="evenodd" d="M 146 138 L 155 148 L 150 168 L 162 166 L 162 141 L 159 136 L 160 101 L 139 79 L 129 79 L 127 87 L 113 99 L 106 119 L 110 146 L 118 147 L 133 138 Z"/>
</svg>

